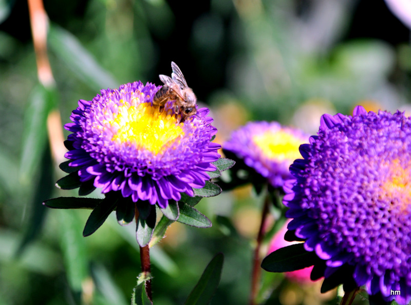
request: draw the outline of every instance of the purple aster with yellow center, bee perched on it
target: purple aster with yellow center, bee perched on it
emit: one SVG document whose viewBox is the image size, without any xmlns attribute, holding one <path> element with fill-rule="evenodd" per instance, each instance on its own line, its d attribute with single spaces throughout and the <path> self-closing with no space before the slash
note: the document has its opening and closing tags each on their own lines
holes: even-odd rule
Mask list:
<svg viewBox="0 0 411 305">
<path fill-rule="evenodd" d="M 216 170 L 212 162 L 220 157 L 220 145 L 211 142 L 217 130 L 209 110 L 178 123 L 172 103 L 162 113 L 153 107 L 159 88 L 139 81 L 79 101 L 72 123 L 65 125 L 72 132 L 65 157 L 82 184 L 165 208 L 210 180 L 207 172 Z"/>
</svg>

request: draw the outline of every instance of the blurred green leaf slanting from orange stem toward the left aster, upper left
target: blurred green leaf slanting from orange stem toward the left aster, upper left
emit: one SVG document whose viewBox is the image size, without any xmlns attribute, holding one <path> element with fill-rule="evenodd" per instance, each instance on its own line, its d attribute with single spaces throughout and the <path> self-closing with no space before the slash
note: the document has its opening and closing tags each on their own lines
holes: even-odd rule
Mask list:
<svg viewBox="0 0 411 305">
<path fill-rule="evenodd" d="M 48 43 L 55 55 L 92 89 L 118 86 L 113 76 L 100 66 L 91 53 L 70 32 L 56 24 L 51 24 Z"/>
</svg>

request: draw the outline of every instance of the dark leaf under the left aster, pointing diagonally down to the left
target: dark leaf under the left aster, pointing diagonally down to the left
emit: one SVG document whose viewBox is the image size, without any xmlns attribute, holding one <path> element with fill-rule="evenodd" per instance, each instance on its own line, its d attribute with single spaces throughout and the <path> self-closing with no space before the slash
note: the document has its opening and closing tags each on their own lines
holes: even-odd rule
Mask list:
<svg viewBox="0 0 411 305">
<path fill-rule="evenodd" d="M 104 198 L 96 208 L 91 212 L 87 219 L 86 225 L 83 230 L 83 236 L 89 236 L 93 234 L 107 219 L 109 214 L 116 208 L 117 197 L 115 194 L 106 194 Z"/>
</svg>

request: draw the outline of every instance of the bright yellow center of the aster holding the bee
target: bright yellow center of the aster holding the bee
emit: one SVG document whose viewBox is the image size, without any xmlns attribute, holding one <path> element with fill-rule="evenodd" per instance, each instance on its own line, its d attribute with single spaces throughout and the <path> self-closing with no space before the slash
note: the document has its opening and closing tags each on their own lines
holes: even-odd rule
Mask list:
<svg viewBox="0 0 411 305">
<path fill-rule="evenodd" d="M 171 110 L 159 113 L 151 103 L 123 104 L 118 107 L 118 114 L 108 122 L 118 127 L 111 138 L 113 141 L 132 143 L 138 149 L 145 149 L 158 154 L 163 148 L 173 143 L 178 136 L 183 136 L 183 123 L 176 124 Z"/>
</svg>

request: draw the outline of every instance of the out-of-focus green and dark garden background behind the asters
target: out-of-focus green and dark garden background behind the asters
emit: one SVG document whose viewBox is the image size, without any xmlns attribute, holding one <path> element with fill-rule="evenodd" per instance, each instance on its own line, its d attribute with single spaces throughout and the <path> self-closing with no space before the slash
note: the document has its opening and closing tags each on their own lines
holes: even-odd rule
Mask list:
<svg viewBox="0 0 411 305">
<path fill-rule="evenodd" d="M 321 114 L 349 114 L 357 104 L 410 109 L 409 30 L 382 0 L 45 0 L 44 6 L 57 96 L 39 86 L 27 3 L 0 0 L 0 305 L 125 305 L 140 271 L 134 224 L 121 227 L 110 217 L 83 238 L 88 210 L 41 205 L 76 195 L 54 187 L 63 173 L 48 153 L 47 99 L 58 101 L 64 124 L 79 99 L 136 80 L 160 84 L 158 75 L 170 75 L 175 61 L 199 103 L 211 108 L 219 143 L 249 120 L 277 120 L 312 134 Z M 173 224 L 152 249 L 154 303 L 182 304 L 222 252 L 212 304 L 246 304 L 261 199 L 243 187 L 198 208 L 212 228 Z M 320 296 L 318 283 L 275 277 L 267 304 L 335 303 L 334 292 Z"/>
</svg>

